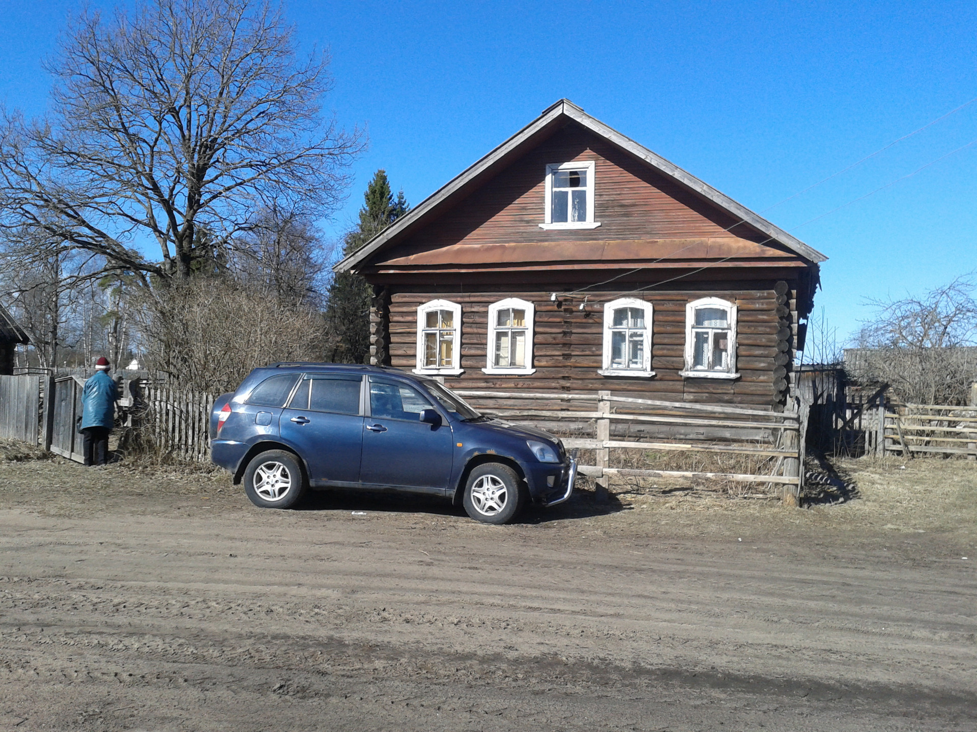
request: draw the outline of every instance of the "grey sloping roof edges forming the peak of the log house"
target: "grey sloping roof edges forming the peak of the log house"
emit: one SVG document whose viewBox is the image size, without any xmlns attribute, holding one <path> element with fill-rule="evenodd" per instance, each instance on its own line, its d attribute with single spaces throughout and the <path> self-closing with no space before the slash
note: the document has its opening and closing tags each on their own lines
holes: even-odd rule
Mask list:
<svg viewBox="0 0 977 732">
<path fill-rule="evenodd" d="M 530 124 L 425 198 L 404 217 L 390 224 L 383 231 L 363 244 L 356 252 L 353 252 L 335 264 L 333 270 L 345 272 L 356 269 L 361 264 L 365 264 L 374 253 L 402 238 L 404 234 L 416 228 L 423 221 L 426 221 L 443 205 L 448 205 L 456 198 L 466 195 L 481 180 L 490 176 L 495 169 L 507 165 L 530 148 L 537 137 L 551 131 L 554 127 L 561 125 L 568 119 L 573 120 L 604 140 L 615 144 L 620 149 L 629 152 L 649 167 L 656 169 L 675 182 L 680 183 L 701 196 L 701 198 L 711 201 L 714 205 L 726 211 L 740 222 L 753 226 L 809 262 L 817 264 L 828 259 L 821 252 L 809 247 L 779 226 L 771 224 L 759 214 L 753 213 L 724 193 L 720 193 L 711 185 L 704 183 L 688 171 L 665 160 L 647 147 L 634 142 L 630 138 L 624 137 L 613 128 L 608 127 L 600 120 L 584 112 L 583 109 L 570 100 L 560 100 L 544 109 L 542 114 L 536 117 Z"/>
</svg>

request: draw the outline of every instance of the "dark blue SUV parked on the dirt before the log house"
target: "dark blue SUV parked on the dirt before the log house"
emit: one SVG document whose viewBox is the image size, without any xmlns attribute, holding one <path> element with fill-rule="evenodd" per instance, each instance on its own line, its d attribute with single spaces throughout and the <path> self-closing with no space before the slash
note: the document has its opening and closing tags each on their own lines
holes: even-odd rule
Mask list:
<svg viewBox="0 0 977 732">
<path fill-rule="evenodd" d="M 312 488 L 445 496 L 486 523 L 563 503 L 576 460 L 541 429 L 479 414 L 433 379 L 376 366 L 255 369 L 210 415 L 211 460 L 263 508 Z"/>
</svg>

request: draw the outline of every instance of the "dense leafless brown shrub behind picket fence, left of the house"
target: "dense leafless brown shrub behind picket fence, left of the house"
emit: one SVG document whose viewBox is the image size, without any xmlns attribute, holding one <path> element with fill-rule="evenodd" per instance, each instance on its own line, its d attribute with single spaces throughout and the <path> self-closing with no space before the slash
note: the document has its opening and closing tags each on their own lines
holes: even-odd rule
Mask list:
<svg viewBox="0 0 977 732">
<path fill-rule="evenodd" d="M 180 388 L 232 391 L 256 367 L 321 360 L 329 346 L 317 308 L 282 302 L 259 283 L 198 277 L 141 299 L 147 365 Z"/>
</svg>

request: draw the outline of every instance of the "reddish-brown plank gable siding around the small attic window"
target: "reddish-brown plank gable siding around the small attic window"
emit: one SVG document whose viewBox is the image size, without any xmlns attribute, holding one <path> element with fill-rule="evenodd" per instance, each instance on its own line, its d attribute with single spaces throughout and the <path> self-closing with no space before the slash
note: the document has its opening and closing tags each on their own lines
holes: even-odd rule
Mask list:
<svg viewBox="0 0 977 732">
<path fill-rule="evenodd" d="M 595 161 L 591 229 L 543 230 L 547 163 Z M 762 243 L 773 257 L 796 257 L 736 219 L 579 125 L 569 124 L 431 224 L 373 258 L 373 266 L 452 244 L 710 239 Z M 732 232 L 726 229 L 732 227 Z M 651 254 L 651 253 L 650 253 Z M 761 253 L 762 254 L 762 253 Z M 653 256 L 653 255 L 651 255 Z M 756 252 L 752 256 L 755 257 Z"/>
</svg>

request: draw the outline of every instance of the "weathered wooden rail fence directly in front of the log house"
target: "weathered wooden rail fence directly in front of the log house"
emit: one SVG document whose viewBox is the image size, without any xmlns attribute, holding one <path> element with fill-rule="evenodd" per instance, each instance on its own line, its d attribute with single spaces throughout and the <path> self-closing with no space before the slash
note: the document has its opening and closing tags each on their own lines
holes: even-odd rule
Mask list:
<svg viewBox="0 0 977 732">
<path fill-rule="evenodd" d="M 616 396 L 610 391 L 594 393 L 528 393 L 459 389 L 459 396 L 472 401 L 481 411 L 506 420 L 529 422 L 539 427 L 572 427 L 574 432 L 595 432 L 593 437 L 564 439 L 568 448 L 594 450 L 593 466 L 580 472 L 595 478 L 598 496 L 606 495 L 614 475 L 636 477 L 679 477 L 720 479 L 733 482 L 781 484 L 783 500 L 796 506 L 802 484 L 802 415 L 798 412 L 768 412 L 714 404 L 658 401 Z M 582 407 L 582 408 L 581 408 Z M 652 428 L 650 428 L 652 427 Z M 626 437 L 635 428 L 646 439 L 615 439 L 613 431 Z M 654 438 L 654 433 L 664 438 Z M 693 440 L 676 441 L 678 434 Z M 648 439 L 651 437 L 651 439 Z M 767 442 L 767 445 L 756 444 Z M 613 468 L 611 449 L 709 452 L 776 457 L 770 474 L 698 472 Z"/>
</svg>

